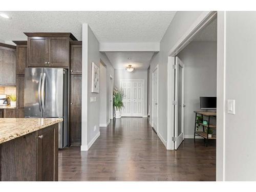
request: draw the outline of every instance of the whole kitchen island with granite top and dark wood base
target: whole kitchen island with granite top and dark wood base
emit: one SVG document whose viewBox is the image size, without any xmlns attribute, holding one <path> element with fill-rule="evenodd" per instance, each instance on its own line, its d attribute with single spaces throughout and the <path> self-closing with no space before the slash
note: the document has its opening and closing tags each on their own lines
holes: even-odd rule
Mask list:
<svg viewBox="0 0 256 192">
<path fill-rule="evenodd" d="M 57 181 L 61 121 L 0 118 L 0 181 Z"/>
</svg>

